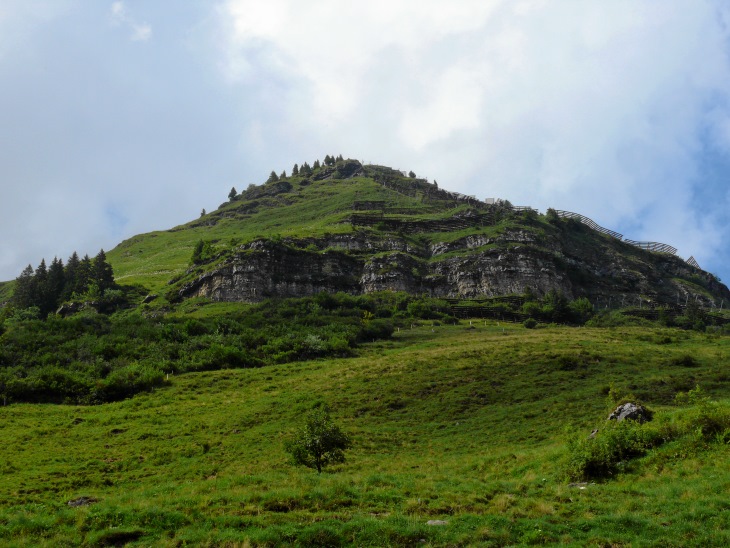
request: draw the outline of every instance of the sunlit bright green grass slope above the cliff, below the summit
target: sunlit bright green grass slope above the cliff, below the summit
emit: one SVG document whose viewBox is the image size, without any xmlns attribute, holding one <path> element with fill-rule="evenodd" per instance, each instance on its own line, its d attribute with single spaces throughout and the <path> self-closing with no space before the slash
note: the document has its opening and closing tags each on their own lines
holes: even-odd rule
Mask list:
<svg viewBox="0 0 730 548">
<path fill-rule="evenodd" d="M 160 292 L 171 278 L 187 269 L 193 248 L 201 239 L 212 241 L 216 249 L 225 251 L 261 237 L 304 238 L 351 232 L 350 224 L 343 221 L 357 200 L 387 201 L 389 206 L 413 207 L 416 211 L 426 207 L 371 179 L 356 177 L 304 185 L 302 178 L 288 181 L 292 188 L 287 192 L 253 199 L 248 199 L 244 192 L 239 199 L 200 219 L 122 242 L 107 255 L 117 281 L 142 284 L 152 292 Z"/>
</svg>

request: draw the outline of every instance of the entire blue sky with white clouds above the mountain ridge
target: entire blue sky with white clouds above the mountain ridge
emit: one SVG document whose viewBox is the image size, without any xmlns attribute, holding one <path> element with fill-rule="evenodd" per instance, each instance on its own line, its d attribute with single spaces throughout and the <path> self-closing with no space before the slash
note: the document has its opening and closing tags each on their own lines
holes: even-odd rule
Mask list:
<svg viewBox="0 0 730 548">
<path fill-rule="evenodd" d="M 725 0 L 0 0 L 0 280 L 326 154 L 730 280 Z"/>
</svg>

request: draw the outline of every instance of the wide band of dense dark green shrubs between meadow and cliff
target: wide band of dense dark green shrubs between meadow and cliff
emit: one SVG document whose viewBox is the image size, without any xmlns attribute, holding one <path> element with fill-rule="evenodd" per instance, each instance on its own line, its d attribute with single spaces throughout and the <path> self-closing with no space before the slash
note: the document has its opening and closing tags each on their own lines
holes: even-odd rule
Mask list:
<svg viewBox="0 0 730 548">
<path fill-rule="evenodd" d="M 96 302 L 111 310 L 124 299 L 122 291 L 108 289 Z M 360 342 L 389 338 L 395 328 L 387 318 L 443 318 L 447 312 L 444 301 L 390 293 L 321 293 L 185 320 L 83 313 L 44 322 L 28 308 L 5 315 L 0 372 L 10 401 L 112 401 L 164 385 L 173 370 L 349 356 Z"/>
</svg>

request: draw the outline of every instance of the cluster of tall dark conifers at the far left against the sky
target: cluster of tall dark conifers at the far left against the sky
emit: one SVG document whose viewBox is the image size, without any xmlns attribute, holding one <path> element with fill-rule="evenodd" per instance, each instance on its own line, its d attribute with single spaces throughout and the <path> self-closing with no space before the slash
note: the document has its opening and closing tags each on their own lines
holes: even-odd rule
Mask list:
<svg viewBox="0 0 730 548">
<path fill-rule="evenodd" d="M 93 259 L 88 255 L 79 259 L 74 251 L 65 265 L 61 259 L 54 258 L 47 266 L 46 260 L 42 259 L 35 270 L 31 265 L 25 267 L 15 282 L 12 304 L 20 309 L 37 307 L 41 317 L 55 311 L 74 295 L 92 293 L 100 296 L 116 287 L 114 271 L 103 249 Z"/>
</svg>

